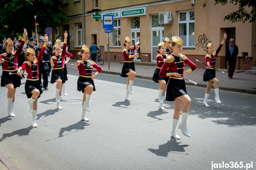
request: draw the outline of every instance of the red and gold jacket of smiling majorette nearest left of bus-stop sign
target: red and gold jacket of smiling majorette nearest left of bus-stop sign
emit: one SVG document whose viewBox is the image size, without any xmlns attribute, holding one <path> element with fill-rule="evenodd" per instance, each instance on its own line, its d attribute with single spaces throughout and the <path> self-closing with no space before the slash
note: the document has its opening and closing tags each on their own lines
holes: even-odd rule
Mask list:
<svg viewBox="0 0 256 170">
<path fill-rule="evenodd" d="M 80 61 L 80 65 L 77 68 L 79 71 L 79 76 L 81 76 L 81 77 L 89 77 L 89 78 L 92 77 L 93 68 L 97 69 L 97 72 L 95 73 L 96 76 L 102 70 L 101 67 L 93 61 L 90 61 L 90 60 L 87 60 L 87 61 L 79 60 L 79 61 Z M 83 64 L 86 64 L 87 66 L 85 66 Z"/>
</svg>

